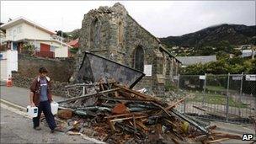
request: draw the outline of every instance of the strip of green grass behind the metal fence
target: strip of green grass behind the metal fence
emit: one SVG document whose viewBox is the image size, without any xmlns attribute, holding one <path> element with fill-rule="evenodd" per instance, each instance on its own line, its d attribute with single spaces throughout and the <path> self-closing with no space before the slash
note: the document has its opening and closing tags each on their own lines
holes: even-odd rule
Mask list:
<svg viewBox="0 0 256 144">
<path fill-rule="evenodd" d="M 207 93 L 206 95 L 204 93 L 192 93 L 195 95 L 194 98 L 189 98 L 189 101 L 195 101 L 195 102 L 203 102 L 203 99 L 205 98 L 206 104 L 221 104 L 225 105 L 227 102 L 227 97 L 225 95 L 221 94 L 211 94 Z M 248 108 L 248 104 L 244 104 L 242 102 L 238 102 L 235 99 L 232 99 L 229 97 L 228 99 L 229 106 L 237 107 L 237 108 Z"/>
</svg>

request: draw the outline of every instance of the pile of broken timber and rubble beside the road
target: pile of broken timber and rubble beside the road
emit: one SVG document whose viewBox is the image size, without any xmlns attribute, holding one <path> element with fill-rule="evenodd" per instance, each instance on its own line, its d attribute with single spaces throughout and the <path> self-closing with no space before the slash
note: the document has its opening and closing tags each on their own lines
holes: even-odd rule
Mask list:
<svg viewBox="0 0 256 144">
<path fill-rule="evenodd" d="M 184 99 L 166 103 L 115 82 L 79 86 L 86 88 L 86 93 L 58 102 L 57 116 L 62 119 L 59 125 L 70 135 L 83 134 L 108 143 L 213 143 L 241 139 L 180 113 L 175 107 Z"/>
</svg>

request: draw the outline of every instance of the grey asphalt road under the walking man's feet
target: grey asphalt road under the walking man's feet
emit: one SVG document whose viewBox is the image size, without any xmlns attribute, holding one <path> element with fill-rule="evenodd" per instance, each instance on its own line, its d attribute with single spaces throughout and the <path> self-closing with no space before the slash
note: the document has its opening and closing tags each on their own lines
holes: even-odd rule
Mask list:
<svg viewBox="0 0 256 144">
<path fill-rule="evenodd" d="M 93 143 L 82 136 L 68 136 L 62 132 L 51 133 L 46 125 L 35 131 L 32 120 L 16 114 L 1 104 L 1 143 Z"/>
</svg>

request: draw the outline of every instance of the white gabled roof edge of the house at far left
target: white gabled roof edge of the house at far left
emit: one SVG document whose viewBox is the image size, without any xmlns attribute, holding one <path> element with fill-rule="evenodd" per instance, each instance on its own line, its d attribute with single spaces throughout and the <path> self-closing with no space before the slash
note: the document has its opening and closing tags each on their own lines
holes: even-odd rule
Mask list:
<svg viewBox="0 0 256 144">
<path fill-rule="evenodd" d="M 1 29 L 8 29 L 8 28 L 13 27 L 14 25 L 21 24 L 23 22 L 26 23 L 26 24 L 30 24 L 32 26 L 35 26 L 36 29 L 44 30 L 45 32 L 47 32 L 47 33 L 49 33 L 51 35 L 56 35 L 56 32 L 52 31 L 51 29 L 47 29 L 44 26 L 42 26 L 40 24 L 36 24 L 35 22 L 33 22 L 33 21 L 29 20 L 29 19 L 26 19 L 24 17 L 19 17 L 17 19 L 13 19 L 13 20 L 9 21 L 8 23 L 2 24 L 0 26 L 0 28 Z"/>
</svg>

